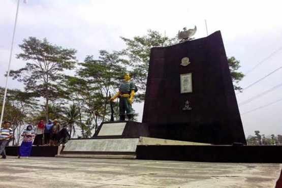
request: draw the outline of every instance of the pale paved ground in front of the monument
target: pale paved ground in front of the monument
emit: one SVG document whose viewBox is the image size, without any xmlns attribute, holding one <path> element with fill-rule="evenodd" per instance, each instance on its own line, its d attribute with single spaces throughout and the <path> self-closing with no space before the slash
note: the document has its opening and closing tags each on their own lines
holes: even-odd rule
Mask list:
<svg viewBox="0 0 282 188">
<path fill-rule="evenodd" d="M 281 167 L 10 156 L 0 160 L 0 187 L 274 187 Z"/>
</svg>

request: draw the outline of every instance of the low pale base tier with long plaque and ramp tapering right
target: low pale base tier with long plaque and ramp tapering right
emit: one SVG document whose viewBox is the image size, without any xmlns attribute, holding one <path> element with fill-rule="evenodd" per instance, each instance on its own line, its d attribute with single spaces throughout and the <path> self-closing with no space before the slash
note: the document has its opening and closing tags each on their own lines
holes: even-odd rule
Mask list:
<svg viewBox="0 0 282 188">
<path fill-rule="evenodd" d="M 56 157 L 61 158 L 110 158 L 136 159 L 139 146 L 161 145 L 210 145 L 196 142 L 166 140 L 158 138 L 91 138 L 70 140 Z"/>
</svg>

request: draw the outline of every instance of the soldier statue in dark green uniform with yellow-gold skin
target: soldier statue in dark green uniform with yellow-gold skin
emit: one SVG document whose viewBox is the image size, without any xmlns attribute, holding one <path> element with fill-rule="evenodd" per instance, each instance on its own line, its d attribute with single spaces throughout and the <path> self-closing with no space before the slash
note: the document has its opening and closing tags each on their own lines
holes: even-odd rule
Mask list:
<svg viewBox="0 0 282 188">
<path fill-rule="evenodd" d="M 126 73 L 124 75 L 124 81 L 121 83 L 119 87 L 119 91 L 116 93 L 114 97 L 110 100 L 114 101 L 115 98 L 119 98 L 119 117 L 120 120 L 126 119 L 126 114 L 129 120 L 133 120 L 133 110 L 132 110 L 132 101 L 133 96 L 137 92 L 137 87 L 134 81 L 130 80 L 130 75 Z"/>
</svg>

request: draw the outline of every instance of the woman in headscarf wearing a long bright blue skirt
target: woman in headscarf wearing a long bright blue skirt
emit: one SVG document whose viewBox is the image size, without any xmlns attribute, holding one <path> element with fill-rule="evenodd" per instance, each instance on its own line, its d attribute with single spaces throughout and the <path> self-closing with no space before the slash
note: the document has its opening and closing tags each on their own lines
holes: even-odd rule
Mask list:
<svg viewBox="0 0 282 188">
<path fill-rule="evenodd" d="M 21 136 L 23 137 L 23 139 L 20 145 L 18 159 L 21 156 L 26 156 L 26 158 L 29 158 L 30 152 L 32 151 L 33 137 L 35 137 L 33 127 L 29 124 L 26 127 L 26 130 L 23 131 Z"/>
</svg>

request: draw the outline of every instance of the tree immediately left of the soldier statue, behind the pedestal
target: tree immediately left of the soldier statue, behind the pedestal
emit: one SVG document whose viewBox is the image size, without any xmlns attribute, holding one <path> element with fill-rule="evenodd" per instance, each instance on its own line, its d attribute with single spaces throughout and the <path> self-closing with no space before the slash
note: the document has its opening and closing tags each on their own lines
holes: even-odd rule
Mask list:
<svg viewBox="0 0 282 188">
<path fill-rule="evenodd" d="M 90 110 L 90 115 L 96 124 L 98 118 L 104 121 L 109 115 L 109 92 L 117 92 L 124 72 L 127 71 L 128 60 L 121 58 L 122 53 L 114 51 L 109 53 L 106 50 L 100 51 L 98 59 L 93 56 L 86 56 L 84 62 L 79 65 L 78 76 L 84 79 L 88 86 L 92 87 L 92 101 L 85 101 Z M 102 108 L 101 108 L 102 107 Z"/>
</svg>

